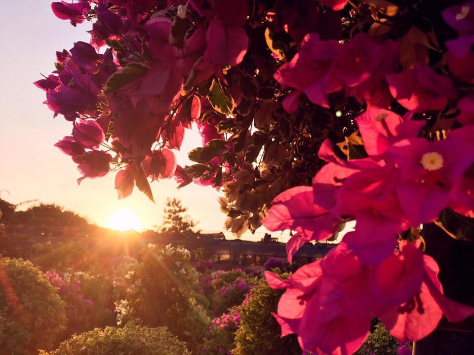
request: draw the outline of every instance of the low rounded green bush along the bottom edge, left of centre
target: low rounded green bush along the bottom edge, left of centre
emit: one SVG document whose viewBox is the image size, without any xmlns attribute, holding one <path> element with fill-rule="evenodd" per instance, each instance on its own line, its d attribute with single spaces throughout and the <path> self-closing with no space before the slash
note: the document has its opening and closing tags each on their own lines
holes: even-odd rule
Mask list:
<svg viewBox="0 0 474 355">
<path fill-rule="evenodd" d="M 166 328 L 147 328 L 129 322 L 73 336 L 59 348 L 40 355 L 190 355 L 186 344 Z"/>
</svg>

